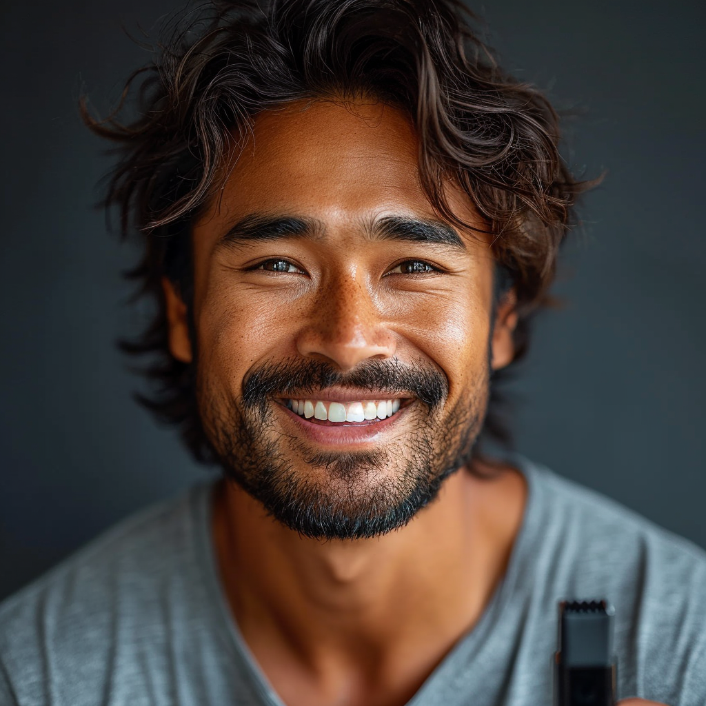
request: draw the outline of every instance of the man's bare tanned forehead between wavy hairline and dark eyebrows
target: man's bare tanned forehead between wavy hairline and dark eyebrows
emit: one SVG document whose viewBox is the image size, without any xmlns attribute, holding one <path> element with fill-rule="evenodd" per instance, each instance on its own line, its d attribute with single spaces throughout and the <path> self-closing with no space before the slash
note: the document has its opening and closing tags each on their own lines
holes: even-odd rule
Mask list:
<svg viewBox="0 0 706 706">
<path fill-rule="evenodd" d="M 419 141 L 409 116 L 381 102 L 300 101 L 256 116 L 227 165 L 217 220 L 296 213 L 335 225 L 381 215 L 436 217 L 419 180 Z M 477 222 L 460 189 L 448 201 Z"/>
</svg>

